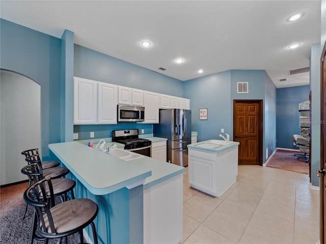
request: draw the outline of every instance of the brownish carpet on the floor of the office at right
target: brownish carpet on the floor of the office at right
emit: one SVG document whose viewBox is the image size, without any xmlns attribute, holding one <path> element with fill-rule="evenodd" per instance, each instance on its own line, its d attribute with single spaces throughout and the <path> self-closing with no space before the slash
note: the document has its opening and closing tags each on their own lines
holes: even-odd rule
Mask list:
<svg viewBox="0 0 326 244">
<path fill-rule="evenodd" d="M 268 161 L 266 167 L 284 169 L 301 174 L 309 174 L 309 164 L 304 160 L 298 160 L 294 154 L 300 154 L 296 151 L 287 151 L 278 149 Z"/>
</svg>

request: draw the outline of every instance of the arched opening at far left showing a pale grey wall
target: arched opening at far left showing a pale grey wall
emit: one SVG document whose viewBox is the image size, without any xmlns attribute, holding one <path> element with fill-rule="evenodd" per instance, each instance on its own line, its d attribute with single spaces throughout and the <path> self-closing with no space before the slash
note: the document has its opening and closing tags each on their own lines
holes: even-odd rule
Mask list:
<svg viewBox="0 0 326 244">
<path fill-rule="evenodd" d="M 21 151 L 41 148 L 41 86 L 21 74 L 0 70 L 1 186 L 26 180 Z"/>
</svg>

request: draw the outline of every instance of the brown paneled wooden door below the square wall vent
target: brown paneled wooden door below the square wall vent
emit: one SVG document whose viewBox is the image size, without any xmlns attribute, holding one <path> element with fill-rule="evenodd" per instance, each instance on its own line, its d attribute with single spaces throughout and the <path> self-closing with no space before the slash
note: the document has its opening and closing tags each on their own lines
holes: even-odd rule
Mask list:
<svg viewBox="0 0 326 244">
<path fill-rule="evenodd" d="M 239 165 L 262 165 L 262 100 L 233 101 L 234 141 Z"/>
</svg>

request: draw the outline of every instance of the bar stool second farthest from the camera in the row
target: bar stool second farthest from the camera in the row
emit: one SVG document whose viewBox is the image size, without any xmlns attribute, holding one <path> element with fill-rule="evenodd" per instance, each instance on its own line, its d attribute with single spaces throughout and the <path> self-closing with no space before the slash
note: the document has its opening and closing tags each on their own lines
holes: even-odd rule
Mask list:
<svg viewBox="0 0 326 244">
<path fill-rule="evenodd" d="M 61 178 L 70 172 L 69 169 L 67 169 L 66 167 L 52 167 L 52 168 L 43 169 L 42 162 L 38 155 L 26 156 L 25 161 L 28 163 L 28 165 L 39 163 L 39 167 L 42 171 L 43 178 L 46 177 L 51 177 L 53 179 Z M 32 184 L 33 182 L 29 179 L 29 187 L 32 186 Z M 25 210 L 21 218 L 22 220 L 25 218 L 26 212 L 27 212 L 27 204 L 25 204 Z"/>
</svg>

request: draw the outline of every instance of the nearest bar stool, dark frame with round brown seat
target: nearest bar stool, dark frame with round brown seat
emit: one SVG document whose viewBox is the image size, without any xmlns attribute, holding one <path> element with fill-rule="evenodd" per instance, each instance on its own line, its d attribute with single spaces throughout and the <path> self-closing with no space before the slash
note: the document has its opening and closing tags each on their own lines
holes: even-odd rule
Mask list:
<svg viewBox="0 0 326 244">
<path fill-rule="evenodd" d="M 50 198 L 47 199 L 47 192 Z M 86 198 L 73 199 L 55 205 L 52 180 L 42 179 L 30 186 L 23 195 L 24 201 L 35 207 L 38 219 L 37 233 L 48 239 L 57 239 L 61 243 L 63 237 L 79 232 L 80 243 L 84 243 L 83 229 L 92 226 L 94 244 L 98 244 L 94 219 L 98 214 L 98 205 Z M 48 201 L 49 200 L 49 201 Z"/>
</svg>

